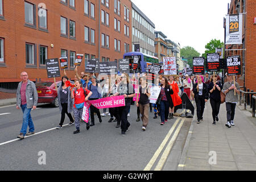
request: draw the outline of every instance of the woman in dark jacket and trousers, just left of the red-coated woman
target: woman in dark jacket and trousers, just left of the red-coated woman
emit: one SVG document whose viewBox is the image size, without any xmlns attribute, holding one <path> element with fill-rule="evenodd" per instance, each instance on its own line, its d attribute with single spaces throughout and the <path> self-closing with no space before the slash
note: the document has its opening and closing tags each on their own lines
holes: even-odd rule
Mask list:
<svg viewBox="0 0 256 182">
<path fill-rule="evenodd" d="M 174 94 L 174 90 L 172 90 L 172 86 L 168 84 L 166 77 L 162 78 L 160 88 L 161 92 L 158 97 L 158 104 L 160 102 L 160 125 L 164 125 L 164 122 L 167 122 L 168 119 L 169 107 L 174 107 L 171 98 L 171 94 Z"/>
</svg>

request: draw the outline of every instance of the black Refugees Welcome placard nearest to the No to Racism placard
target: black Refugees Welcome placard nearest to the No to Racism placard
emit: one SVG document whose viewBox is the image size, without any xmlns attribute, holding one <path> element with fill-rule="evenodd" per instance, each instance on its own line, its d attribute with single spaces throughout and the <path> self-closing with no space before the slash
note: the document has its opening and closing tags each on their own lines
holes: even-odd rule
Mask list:
<svg viewBox="0 0 256 182">
<path fill-rule="evenodd" d="M 208 53 L 206 69 L 208 72 L 220 71 L 220 54 L 219 53 Z"/>
</svg>

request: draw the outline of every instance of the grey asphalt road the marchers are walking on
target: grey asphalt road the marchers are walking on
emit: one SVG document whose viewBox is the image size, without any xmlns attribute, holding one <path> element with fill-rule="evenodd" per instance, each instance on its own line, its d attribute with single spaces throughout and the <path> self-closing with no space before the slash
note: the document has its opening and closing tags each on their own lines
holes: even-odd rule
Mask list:
<svg viewBox="0 0 256 182">
<path fill-rule="evenodd" d="M 55 129 L 60 122 L 59 108 L 41 104 L 31 111 L 31 115 L 36 133 L 48 131 L 16 140 L 22 126 L 22 110 L 16 110 L 15 106 L 0 107 L 0 170 L 137 171 L 143 170 L 155 156 L 153 170 L 163 150 L 159 155 L 155 153 L 179 118 L 170 119 L 161 126 L 160 118 L 153 119 L 154 114 L 150 113 L 147 129 L 142 131 L 142 121 L 135 121 L 137 107 L 131 105 L 131 116 L 128 117 L 131 126 L 126 136 L 122 137 L 121 129 L 115 128 L 116 122 L 108 122 L 109 116 L 102 117 L 102 123 L 98 122 L 96 116 L 96 125 L 89 130 L 81 122 L 80 133 L 75 135 L 75 125 Z M 190 125 L 191 121 L 192 118 L 185 119 L 184 125 L 180 125 L 180 133 L 184 133 L 183 126 Z M 177 126 L 180 122 L 181 118 Z M 66 115 L 64 125 L 68 123 Z M 173 130 L 175 132 L 177 127 Z M 168 140 L 174 140 L 172 136 L 171 133 Z M 42 152 L 45 154 L 45 164 L 39 164 Z"/>
</svg>

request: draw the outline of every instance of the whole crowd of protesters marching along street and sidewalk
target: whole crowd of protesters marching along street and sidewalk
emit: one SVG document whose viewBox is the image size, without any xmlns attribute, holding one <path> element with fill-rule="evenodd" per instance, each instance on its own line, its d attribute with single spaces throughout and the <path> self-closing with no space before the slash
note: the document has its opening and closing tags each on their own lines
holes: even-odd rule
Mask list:
<svg viewBox="0 0 256 182">
<path fill-rule="evenodd" d="M 30 115 L 31 109 L 35 109 L 38 100 L 34 82 L 28 80 L 26 72 L 20 75 L 22 81 L 19 83 L 17 90 L 16 108 L 22 108 L 23 125 L 18 138 L 23 139 L 25 135 L 35 133 L 34 124 Z M 103 109 L 103 113 L 93 105 L 89 108 L 89 122 L 86 123 L 86 129 L 95 125 L 94 115 L 97 114 L 98 121 L 102 122 L 102 117 L 110 116 L 108 122 L 117 122 L 115 127 L 121 128 L 121 135 L 126 135 L 126 131 L 130 127 L 129 117 L 130 106 L 137 106 L 137 119 L 142 120 L 142 131 L 146 131 L 148 125 L 148 112 L 154 109 L 154 119 L 160 117 L 160 125 L 164 125 L 168 119 L 174 118 L 175 106 L 181 105 L 181 96 L 187 94 L 188 98 L 196 103 L 197 123 L 203 121 L 203 113 L 205 102 L 210 99 L 212 107 L 213 125 L 218 121 L 218 113 L 220 111 L 220 95 L 221 92 L 226 96 L 226 117 L 227 127 L 234 126 L 234 112 L 237 103 L 237 95 L 239 93 L 239 85 L 233 80 L 232 76 L 226 76 L 227 82 L 222 86 L 220 77 L 217 75 L 210 76 L 206 73 L 204 76 L 196 75 L 159 75 L 155 77 L 155 81 L 148 81 L 147 73 L 139 74 L 131 77 L 127 73 L 113 76 L 105 76 L 97 79 L 95 73 L 84 73 L 80 75 L 75 69 L 74 80 L 69 80 L 67 74 L 61 78 L 58 85 L 57 96 L 59 101 L 59 109 L 61 113 L 60 123 L 56 129 L 61 129 L 64 123 L 65 114 L 69 118 L 69 126 L 75 123 L 76 130 L 73 134 L 80 133 L 80 122 L 82 121 L 82 111 L 84 101 L 98 100 L 99 98 L 124 96 L 125 106 Z M 67 82 L 74 84 L 71 87 Z M 155 104 L 150 103 L 151 86 L 159 86 L 160 94 Z M 136 92 L 135 92 L 136 90 Z M 29 94 L 29 95 L 28 95 Z M 73 116 L 72 113 L 73 112 Z M 27 126 L 30 130 L 27 133 Z"/>
</svg>

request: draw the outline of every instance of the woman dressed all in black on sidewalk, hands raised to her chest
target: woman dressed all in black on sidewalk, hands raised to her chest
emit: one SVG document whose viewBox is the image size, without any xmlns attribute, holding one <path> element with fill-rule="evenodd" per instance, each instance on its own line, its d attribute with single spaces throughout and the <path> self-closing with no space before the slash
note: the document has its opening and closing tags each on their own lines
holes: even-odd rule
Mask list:
<svg viewBox="0 0 256 182">
<path fill-rule="evenodd" d="M 216 121 L 218 121 L 218 112 L 220 111 L 221 104 L 221 90 L 222 85 L 219 81 L 217 81 L 217 75 L 215 75 L 210 79 L 210 83 L 208 85 L 208 92 L 210 94 L 210 106 L 212 106 L 213 125 L 216 125 Z"/>
</svg>

